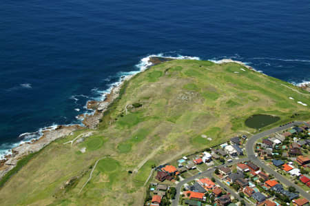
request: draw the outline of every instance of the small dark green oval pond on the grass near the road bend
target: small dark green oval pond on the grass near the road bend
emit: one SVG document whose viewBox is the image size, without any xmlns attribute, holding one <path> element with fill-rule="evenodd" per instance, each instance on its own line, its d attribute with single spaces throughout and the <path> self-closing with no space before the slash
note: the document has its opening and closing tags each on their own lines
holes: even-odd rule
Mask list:
<svg viewBox="0 0 310 206">
<path fill-rule="evenodd" d="M 280 117 L 278 116 L 271 116 L 267 114 L 254 114 L 245 121 L 245 125 L 254 129 L 260 129 L 279 120 Z"/>
</svg>

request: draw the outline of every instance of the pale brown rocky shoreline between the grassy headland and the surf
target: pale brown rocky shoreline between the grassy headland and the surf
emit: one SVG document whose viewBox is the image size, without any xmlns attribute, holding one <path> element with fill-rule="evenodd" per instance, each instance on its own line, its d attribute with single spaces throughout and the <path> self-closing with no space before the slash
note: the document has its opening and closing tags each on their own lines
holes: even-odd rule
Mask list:
<svg viewBox="0 0 310 206">
<path fill-rule="evenodd" d="M 165 58 L 160 56 L 150 56 L 148 59 L 149 64 L 147 64 L 147 68 L 152 65 L 156 65 L 158 63 L 162 63 L 165 61 L 172 61 L 172 58 Z M 245 68 L 249 70 L 254 70 L 249 65 L 245 65 L 241 61 L 234 61 L 232 59 L 222 59 L 220 61 L 216 61 L 216 63 L 238 63 L 240 65 L 245 66 Z M 142 71 L 141 71 L 142 72 Z M 76 130 L 81 130 L 85 128 L 96 129 L 97 125 L 99 125 L 100 119 L 103 117 L 105 111 L 107 111 L 108 106 L 112 103 L 118 96 L 125 81 L 129 81 L 134 75 L 122 76 L 121 82 L 118 85 L 114 86 L 109 94 L 105 95 L 105 99 L 103 101 L 88 101 L 87 109 L 94 110 L 93 114 L 80 114 L 79 119 L 82 120 L 84 126 L 81 125 L 59 125 L 54 130 L 45 130 L 43 131 L 43 135 L 37 139 L 32 140 L 30 143 L 23 143 L 18 147 L 12 149 L 12 154 L 8 154 L 4 159 L 0 161 L 0 178 L 2 178 L 5 174 L 7 174 L 12 168 L 17 165 L 17 161 L 26 155 L 38 152 L 45 145 L 48 145 L 52 141 L 55 141 L 58 138 L 63 138 L 72 134 L 72 132 Z M 310 92 L 310 84 L 300 86 L 302 89 Z"/>
</svg>

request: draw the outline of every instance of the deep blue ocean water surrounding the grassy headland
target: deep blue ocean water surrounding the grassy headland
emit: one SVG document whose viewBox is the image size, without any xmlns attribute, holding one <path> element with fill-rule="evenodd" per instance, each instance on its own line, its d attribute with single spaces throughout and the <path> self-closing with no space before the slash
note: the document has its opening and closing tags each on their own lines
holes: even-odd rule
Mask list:
<svg viewBox="0 0 310 206">
<path fill-rule="evenodd" d="M 78 123 L 87 99 L 158 53 L 310 81 L 310 1 L 1 1 L 0 144 Z"/>
</svg>

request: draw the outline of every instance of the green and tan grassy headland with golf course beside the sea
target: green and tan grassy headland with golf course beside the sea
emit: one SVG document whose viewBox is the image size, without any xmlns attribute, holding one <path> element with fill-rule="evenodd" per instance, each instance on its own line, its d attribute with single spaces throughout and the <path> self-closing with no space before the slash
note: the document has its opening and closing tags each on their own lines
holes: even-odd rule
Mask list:
<svg viewBox="0 0 310 206">
<path fill-rule="evenodd" d="M 151 165 L 257 132 L 245 125 L 253 114 L 280 118 L 262 130 L 310 118 L 309 93 L 237 63 L 166 61 L 125 82 L 121 93 L 99 129 L 35 154 L 0 189 L 1 204 L 141 205 Z M 81 143 L 63 144 L 91 131 Z"/>
</svg>

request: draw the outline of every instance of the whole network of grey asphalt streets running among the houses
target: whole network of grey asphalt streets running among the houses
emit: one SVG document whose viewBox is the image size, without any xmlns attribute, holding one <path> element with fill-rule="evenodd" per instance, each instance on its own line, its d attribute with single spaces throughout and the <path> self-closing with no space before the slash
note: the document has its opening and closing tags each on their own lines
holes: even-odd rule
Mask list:
<svg viewBox="0 0 310 206">
<path fill-rule="evenodd" d="M 285 126 L 282 127 L 274 127 L 271 130 L 267 130 L 265 132 L 261 132 L 259 134 L 256 134 L 254 136 L 252 136 L 251 138 L 249 138 L 249 140 L 247 141 L 246 145 L 245 145 L 245 150 L 247 151 L 247 156 L 248 158 L 242 158 L 239 160 L 235 160 L 231 163 L 225 163 L 224 165 L 221 166 L 228 166 L 228 165 L 234 165 L 236 163 L 240 163 L 243 161 L 252 161 L 253 163 L 255 163 L 256 165 L 258 165 L 259 167 L 262 167 L 265 169 L 265 171 L 269 174 L 273 174 L 273 176 L 278 179 L 278 181 L 280 181 L 280 183 L 283 183 L 287 186 L 293 186 L 296 188 L 296 191 L 299 192 L 302 196 L 304 196 L 305 198 L 307 198 L 308 200 L 310 199 L 310 195 L 305 192 L 301 187 L 299 187 L 298 185 L 295 185 L 294 183 L 292 183 L 290 180 L 288 180 L 287 178 L 285 178 L 284 176 L 278 174 L 278 172 L 275 172 L 271 167 L 265 165 L 265 163 L 263 163 L 262 161 L 260 161 L 254 153 L 254 144 L 256 143 L 256 141 L 258 141 L 258 139 L 265 137 L 265 136 L 269 136 L 270 134 L 276 133 L 276 132 L 280 132 L 282 130 L 287 130 L 290 127 L 293 127 L 295 125 L 302 125 L 302 124 L 306 124 L 307 126 L 310 127 L 310 125 L 308 123 L 304 123 L 301 121 L 295 121 L 294 123 L 290 123 L 287 124 Z M 202 176 L 209 176 L 211 177 L 213 172 L 215 171 L 216 167 L 209 169 L 205 172 L 201 172 L 200 174 L 196 174 L 194 176 L 191 176 L 183 181 L 180 181 L 177 185 L 176 185 L 176 197 L 174 200 L 172 200 L 172 206 L 178 206 L 178 201 L 180 198 L 180 189 L 181 187 L 185 184 L 185 183 L 189 183 L 191 181 L 194 181 L 196 178 L 200 178 Z M 225 184 L 221 183 L 220 181 L 217 181 L 218 185 L 220 185 L 220 187 L 224 187 L 227 189 L 228 192 L 230 192 L 233 196 L 240 198 L 240 196 L 238 194 L 236 194 L 236 192 L 234 192 L 232 189 L 230 189 L 229 187 L 227 187 Z M 229 189 L 229 190 L 228 190 Z M 247 202 L 245 202 L 247 205 L 249 205 Z"/>
</svg>

